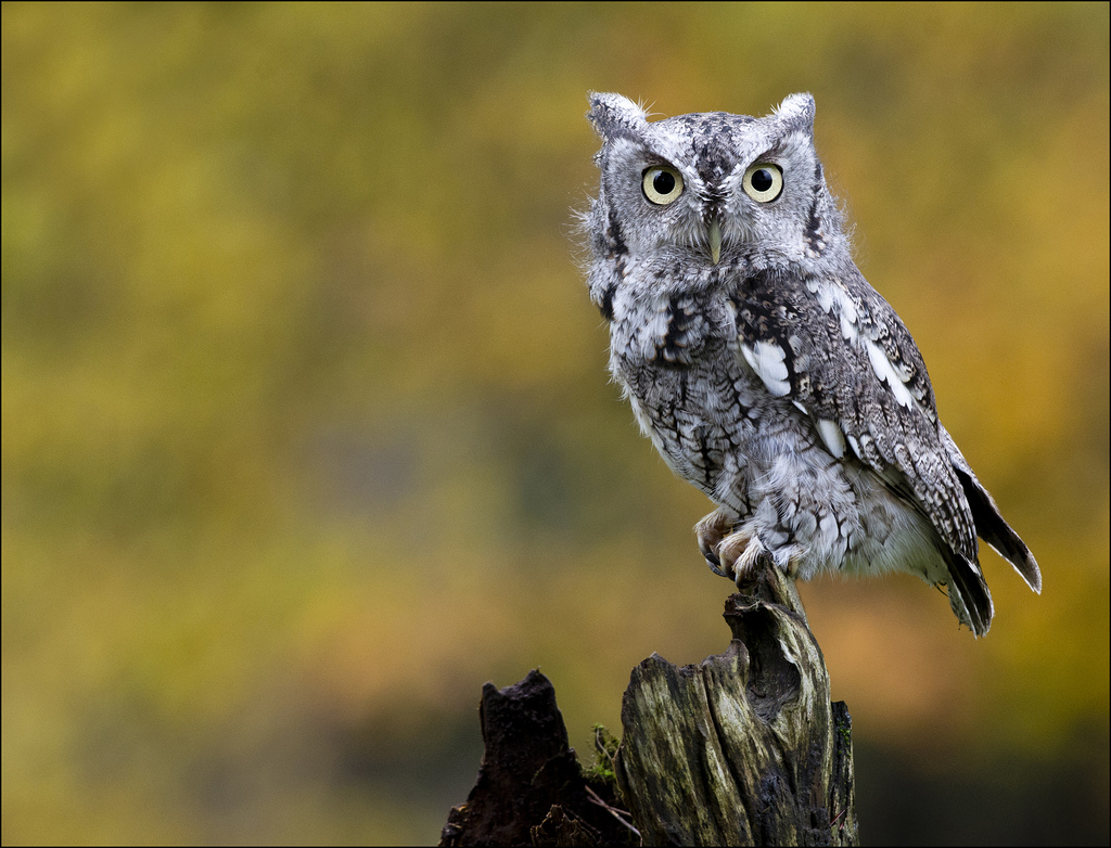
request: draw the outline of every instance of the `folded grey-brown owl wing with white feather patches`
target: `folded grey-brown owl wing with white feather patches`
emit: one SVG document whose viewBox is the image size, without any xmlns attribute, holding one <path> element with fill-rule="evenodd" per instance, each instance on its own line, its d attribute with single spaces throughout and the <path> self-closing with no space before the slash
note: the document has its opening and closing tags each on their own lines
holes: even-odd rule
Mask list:
<svg viewBox="0 0 1111 848">
<path fill-rule="evenodd" d="M 840 277 L 759 272 L 731 300 L 740 354 L 768 391 L 792 401 L 835 457 L 851 451 L 867 463 L 974 564 L 975 525 L 925 363 L 887 301 L 855 267 Z"/>
</svg>

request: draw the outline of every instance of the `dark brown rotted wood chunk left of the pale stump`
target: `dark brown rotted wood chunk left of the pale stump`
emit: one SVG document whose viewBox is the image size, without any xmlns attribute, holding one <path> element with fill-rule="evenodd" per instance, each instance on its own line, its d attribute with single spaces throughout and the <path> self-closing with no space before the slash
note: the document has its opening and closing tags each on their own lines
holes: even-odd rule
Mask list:
<svg viewBox="0 0 1111 848">
<path fill-rule="evenodd" d="M 441 846 L 635 845 L 611 811 L 614 787 L 589 779 L 568 746 L 556 690 L 540 672 L 482 687 L 486 753 L 464 804 L 452 808 Z"/>
</svg>

